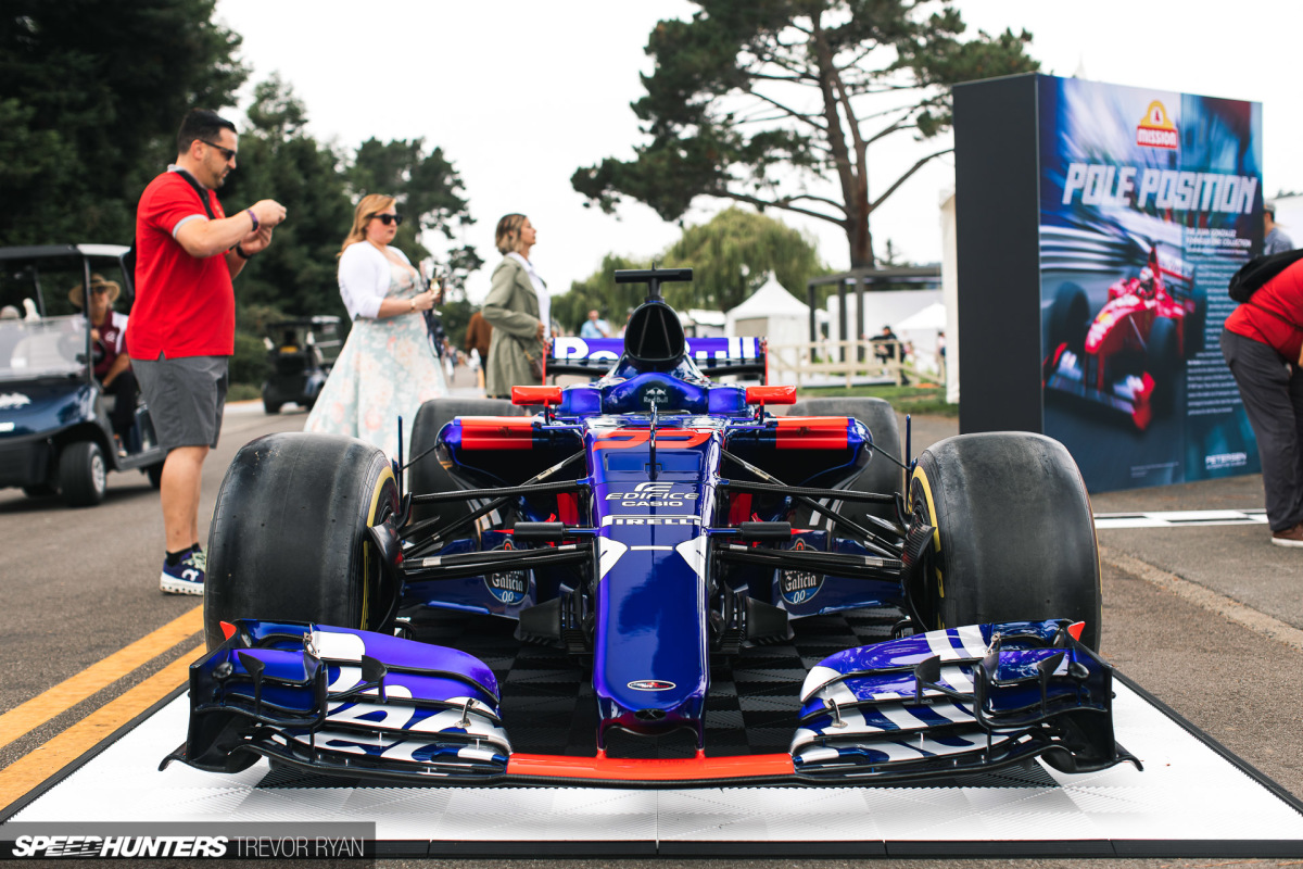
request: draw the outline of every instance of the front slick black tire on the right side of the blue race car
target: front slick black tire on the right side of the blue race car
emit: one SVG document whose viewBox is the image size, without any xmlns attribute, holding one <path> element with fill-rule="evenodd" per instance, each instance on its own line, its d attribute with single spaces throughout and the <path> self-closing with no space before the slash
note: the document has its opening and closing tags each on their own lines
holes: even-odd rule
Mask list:
<svg viewBox="0 0 1303 869">
<path fill-rule="evenodd" d="M 909 504 L 936 529 L 916 595 L 929 628 L 1071 619 L 1098 650 L 1100 552 L 1063 444 L 1020 431 L 947 438 L 919 456 Z"/>
</svg>

